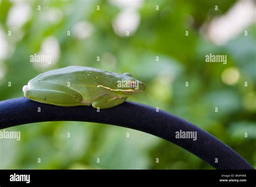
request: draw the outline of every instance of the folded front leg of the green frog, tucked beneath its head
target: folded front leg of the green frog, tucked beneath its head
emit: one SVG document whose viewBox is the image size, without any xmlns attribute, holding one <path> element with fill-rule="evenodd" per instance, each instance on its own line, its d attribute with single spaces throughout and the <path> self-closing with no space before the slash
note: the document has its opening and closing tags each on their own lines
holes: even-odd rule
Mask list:
<svg viewBox="0 0 256 187">
<path fill-rule="evenodd" d="M 98 97 L 92 103 L 92 106 L 95 107 L 96 109 L 97 107 L 99 107 L 99 109 L 109 109 L 111 107 L 124 103 L 126 99 L 127 97 L 117 98 L 114 95 L 103 95 Z"/>
</svg>

